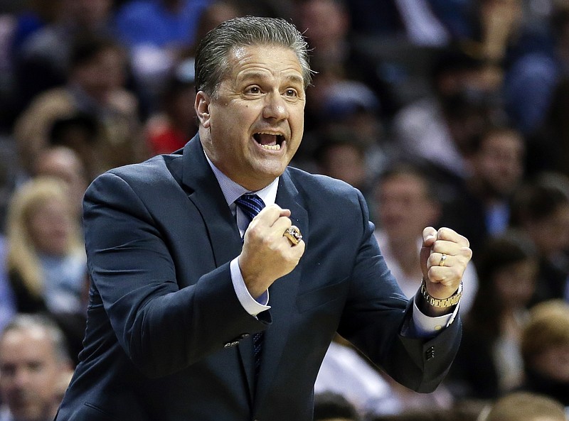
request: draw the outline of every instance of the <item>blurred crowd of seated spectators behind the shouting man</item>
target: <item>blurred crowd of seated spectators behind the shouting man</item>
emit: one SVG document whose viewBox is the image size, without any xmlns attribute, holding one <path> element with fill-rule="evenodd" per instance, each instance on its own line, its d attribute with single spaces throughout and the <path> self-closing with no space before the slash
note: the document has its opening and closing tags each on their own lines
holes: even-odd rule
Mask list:
<svg viewBox="0 0 569 421">
<path fill-rule="evenodd" d="M 196 43 L 244 15 L 306 35 L 292 165 L 363 192 L 403 292 L 425 226 L 474 252 L 442 386 L 403 389 L 338 337 L 315 419 L 563 421 L 568 0 L 0 0 L 0 421 L 53 419 L 78 361 L 85 188 L 193 137 Z"/>
</svg>

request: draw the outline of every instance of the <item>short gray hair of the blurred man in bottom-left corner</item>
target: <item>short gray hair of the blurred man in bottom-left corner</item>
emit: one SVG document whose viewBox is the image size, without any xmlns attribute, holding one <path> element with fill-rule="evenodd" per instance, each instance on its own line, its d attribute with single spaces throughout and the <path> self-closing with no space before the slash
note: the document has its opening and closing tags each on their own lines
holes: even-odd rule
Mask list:
<svg viewBox="0 0 569 421">
<path fill-rule="evenodd" d="M 4 339 L 6 333 L 11 331 L 26 329 L 42 329 L 53 345 L 55 358 L 60 362 L 70 361 L 67 340 L 65 334 L 53 319 L 41 314 L 20 313 L 14 316 L 6 327 L 2 330 L 0 340 Z"/>
</svg>

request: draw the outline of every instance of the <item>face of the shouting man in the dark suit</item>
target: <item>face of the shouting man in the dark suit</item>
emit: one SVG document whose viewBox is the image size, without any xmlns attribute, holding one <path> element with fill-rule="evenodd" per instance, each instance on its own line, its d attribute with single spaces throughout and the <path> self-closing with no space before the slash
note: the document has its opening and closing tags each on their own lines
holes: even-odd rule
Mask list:
<svg viewBox="0 0 569 421">
<path fill-rule="evenodd" d="M 288 48 L 234 48 L 216 97 L 196 96 L 200 137 L 214 165 L 248 190 L 280 176 L 304 130 L 304 80 Z"/>
</svg>

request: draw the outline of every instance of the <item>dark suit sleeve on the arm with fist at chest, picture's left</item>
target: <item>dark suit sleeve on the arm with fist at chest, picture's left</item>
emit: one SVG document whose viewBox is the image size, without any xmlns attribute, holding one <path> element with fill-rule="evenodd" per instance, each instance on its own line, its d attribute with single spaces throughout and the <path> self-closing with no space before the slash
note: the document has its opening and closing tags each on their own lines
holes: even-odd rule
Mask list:
<svg viewBox="0 0 569 421">
<path fill-rule="evenodd" d="M 122 177 L 97 177 L 85 194 L 83 219 L 94 288 L 119 344 L 147 376 L 179 371 L 264 329 L 240 305 L 229 263 L 207 273 L 198 268 L 203 274 L 179 288 L 170 245 Z M 203 238 L 187 253 L 203 253 Z"/>
</svg>

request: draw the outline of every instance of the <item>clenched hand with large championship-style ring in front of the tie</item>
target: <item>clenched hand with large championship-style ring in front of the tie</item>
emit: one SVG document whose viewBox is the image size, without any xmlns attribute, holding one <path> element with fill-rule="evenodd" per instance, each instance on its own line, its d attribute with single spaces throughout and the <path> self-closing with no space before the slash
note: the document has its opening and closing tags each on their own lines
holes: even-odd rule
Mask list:
<svg viewBox="0 0 569 421">
<path fill-rule="evenodd" d="M 238 263 L 245 286 L 255 299 L 275 280 L 292 272 L 304 254 L 304 241 L 293 245 L 283 236 L 292 225 L 289 217 L 289 209 L 270 204 L 257 214 L 245 231 Z"/>
</svg>

